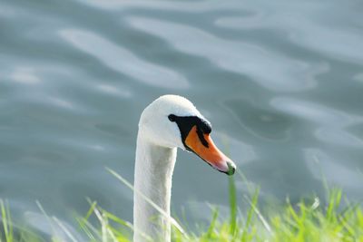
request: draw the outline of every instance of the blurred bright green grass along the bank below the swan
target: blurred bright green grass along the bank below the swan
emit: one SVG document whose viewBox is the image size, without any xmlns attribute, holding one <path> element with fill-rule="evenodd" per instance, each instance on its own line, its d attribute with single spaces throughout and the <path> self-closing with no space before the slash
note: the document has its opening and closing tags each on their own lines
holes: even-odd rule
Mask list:
<svg viewBox="0 0 363 242">
<path fill-rule="evenodd" d="M 116 178 L 117 174 L 113 174 Z M 349 203 L 345 200 L 341 189 L 329 189 L 326 204 L 320 204 L 318 197 L 309 200 L 300 200 L 298 204 L 291 204 L 289 199 L 283 206 L 259 208 L 259 189 L 250 189 L 249 194 L 240 196 L 236 193 L 234 180 L 229 182 L 230 215 L 221 218 L 219 208 L 211 208 L 211 221 L 205 229 L 198 233 L 180 229 L 182 226 L 176 222 L 172 229 L 172 241 L 343 241 L 363 242 L 363 209 L 360 204 Z M 245 212 L 240 211 L 241 202 L 247 205 Z M 49 223 L 53 224 L 54 232 L 51 240 L 57 241 L 90 241 L 90 242 L 123 242 L 131 241 L 132 224 L 100 208 L 96 202 L 90 201 L 88 213 L 77 218 L 78 234 L 82 240 L 74 236 L 56 218 L 46 215 L 44 209 L 38 204 Z M 38 242 L 49 241 L 33 230 L 25 227 L 15 227 L 8 205 L 0 200 L 2 229 L 1 241 L 6 242 Z M 268 207 L 268 206 L 267 206 Z M 246 206 L 244 206 L 246 208 Z M 262 215 L 263 214 L 263 215 Z M 91 223 L 96 218 L 96 223 Z M 175 225 L 174 224 L 174 225 Z M 178 228 L 179 227 L 179 228 Z M 145 239 L 148 240 L 147 235 Z"/>
</svg>

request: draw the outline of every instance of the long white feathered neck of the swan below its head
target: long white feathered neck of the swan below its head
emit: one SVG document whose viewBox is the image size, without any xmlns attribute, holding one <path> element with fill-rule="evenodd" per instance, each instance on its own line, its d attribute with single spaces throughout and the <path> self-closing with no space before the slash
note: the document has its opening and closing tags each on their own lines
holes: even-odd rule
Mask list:
<svg viewBox="0 0 363 242">
<path fill-rule="evenodd" d="M 139 131 L 136 147 L 134 189 L 158 205 L 162 215 L 138 192 L 134 192 L 133 226 L 134 242 L 146 241 L 145 235 L 154 241 L 171 241 L 170 205 L 172 196 L 172 172 L 176 160 L 176 148 L 152 144 Z M 143 235 L 142 235 L 143 233 Z"/>
</svg>

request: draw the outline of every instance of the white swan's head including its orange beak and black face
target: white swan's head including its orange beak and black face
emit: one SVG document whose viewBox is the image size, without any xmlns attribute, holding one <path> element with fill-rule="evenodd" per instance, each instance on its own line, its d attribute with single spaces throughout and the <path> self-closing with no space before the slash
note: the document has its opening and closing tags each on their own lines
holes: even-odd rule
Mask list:
<svg viewBox="0 0 363 242">
<path fill-rule="evenodd" d="M 228 175 L 236 169 L 211 140 L 211 122 L 182 96 L 164 95 L 152 102 L 142 111 L 139 131 L 154 145 L 191 151 Z"/>
</svg>

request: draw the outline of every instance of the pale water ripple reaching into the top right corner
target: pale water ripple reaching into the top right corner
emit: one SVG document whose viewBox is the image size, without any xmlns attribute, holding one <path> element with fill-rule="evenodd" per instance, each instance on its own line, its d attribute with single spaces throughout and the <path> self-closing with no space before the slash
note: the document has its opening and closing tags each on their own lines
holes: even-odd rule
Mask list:
<svg viewBox="0 0 363 242">
<path fill-rule="evenodd" d="M 243 7 L 254 13 L 246 17 L 240 15 L 222 16 L 215 24 L 227 29 L 250 30 L 269 29 L 287 33 L 295 44 L 323 53 L 337 60 L 363 64 L 363 38 L 361 11 L 356 1 L 340 5 L 334 15 L 323 15 L 334 9 L 337 1 L 295 5 L 291 1 L 279 1 L 280 11 L 273 11 L 276 3 L 260 1 L 244 3 Z M 281 15 L 281 12 L 283 13 Z M 334 24 L 337 19 L 346 20 L 347 25 Z M 355 27 L 354 27 L 355 26 Z M 354 46 L 354 47 L 352 47 Z"/>
</svg>

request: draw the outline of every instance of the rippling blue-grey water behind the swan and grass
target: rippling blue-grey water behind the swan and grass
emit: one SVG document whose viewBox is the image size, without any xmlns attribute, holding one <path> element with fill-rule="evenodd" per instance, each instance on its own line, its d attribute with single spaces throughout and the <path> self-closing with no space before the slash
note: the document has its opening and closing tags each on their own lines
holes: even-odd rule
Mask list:
<svg viewBox="0 0 363 242">
<path fill-rule="evenodd" d="M 132 220 L 137 122 L 194 102 L 262 198 L 363 198 L 361 1 L 0 2 L 0 197 L 39 225 L 85 198 Z M 227 177 L 179 151 L 172 209 L 209 218 Z M 246 185 L 238 179 L 240 194 Z M 38 226 L 39 227 L 39 226 Z"/>
</svg>

